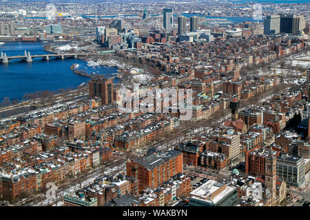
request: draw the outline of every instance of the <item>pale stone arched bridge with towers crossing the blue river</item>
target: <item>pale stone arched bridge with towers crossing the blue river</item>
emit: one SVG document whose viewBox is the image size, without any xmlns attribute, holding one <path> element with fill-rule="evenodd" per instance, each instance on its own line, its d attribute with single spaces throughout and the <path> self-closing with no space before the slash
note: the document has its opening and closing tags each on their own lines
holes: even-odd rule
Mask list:
<svg viewBox="0 0 310 220">
<path fill-rule="evenodd" d="M 77 56 L 89 56 L 98 53 L 81 53 L 81 54 L 43 54 L 43 55 L 31 55 L 30 52 L 26 52 L 23 56 L 7 56 L 6 53 L 1 52 L 0 61 L 1 63 L 9 63 L 12 59 L 20 59 L 27 62 L 32 62 L 33 58 L 43 58 L 45 60 L 50 60 L 51 57 L 56 58 L 77 58 Z"/>
</svg>

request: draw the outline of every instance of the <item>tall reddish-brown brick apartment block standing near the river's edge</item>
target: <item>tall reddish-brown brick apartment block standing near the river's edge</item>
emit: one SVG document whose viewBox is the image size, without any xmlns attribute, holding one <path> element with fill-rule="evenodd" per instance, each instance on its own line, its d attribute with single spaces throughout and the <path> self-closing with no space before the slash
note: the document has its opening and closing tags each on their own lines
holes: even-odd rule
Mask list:
<svg viewBox="0 0 310 220">
<path fill-rule="evenodd" d="M 102 104 L 113 104 L 112 80 L 93 78 L 92 80 L 90 80 L 90 83 L 88 83 L 88 85 L 90 90 L 90 97 L 100 96 L 102 99 Z"/>
</svg>

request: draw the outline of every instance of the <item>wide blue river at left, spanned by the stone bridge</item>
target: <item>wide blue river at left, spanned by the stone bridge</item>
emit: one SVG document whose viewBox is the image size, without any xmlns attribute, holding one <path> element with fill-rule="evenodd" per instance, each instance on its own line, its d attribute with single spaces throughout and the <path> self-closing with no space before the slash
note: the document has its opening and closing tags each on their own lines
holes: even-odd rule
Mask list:
<svg viewBox="0 0 310 220">
<path fill-rule="evenodd" d="M 44 51 L 44 45 L 44 43 L 5 43 L 0 45 L 0 52 L 5 52 L 8 56 L 23 56 L 25 50 L 32 55 L 50 54 Z M 4 97 L 21 100 L 23 94 L 34 91 L 56 91 L 87 83 L 90 78 L 72 72 L 70 67 L 73 63 L 78 63 L 79 69 L 90 74 L 94 72 L 112 76 L 117 72 L 116 67 L 87 67 L 85 61 L 74 58 L 64 60 L 50 58 L 50 61 L 34 58 L 32 63 L 13 59 L 8 64 L 0 63 L 0 102 Z"/>
</svg>

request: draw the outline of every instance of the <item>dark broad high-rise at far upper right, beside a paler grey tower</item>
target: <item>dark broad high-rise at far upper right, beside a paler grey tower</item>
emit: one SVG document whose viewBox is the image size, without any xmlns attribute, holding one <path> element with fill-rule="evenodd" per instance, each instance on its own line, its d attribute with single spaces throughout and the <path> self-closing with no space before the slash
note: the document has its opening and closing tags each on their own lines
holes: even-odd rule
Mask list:
<svg viewBox="0 0 310 220">
<path fill-rule="evenodd" d="M 305 28 L 304 16 L 280 14 L 280 33 L 298 34 Z"/>
</svg>

